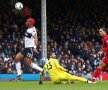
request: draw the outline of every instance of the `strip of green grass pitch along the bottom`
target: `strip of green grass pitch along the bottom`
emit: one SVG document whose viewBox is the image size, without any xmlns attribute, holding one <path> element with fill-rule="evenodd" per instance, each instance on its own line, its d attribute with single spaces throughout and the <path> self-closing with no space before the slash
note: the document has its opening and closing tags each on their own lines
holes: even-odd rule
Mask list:
<svg viewBox="0 0 108 90">
<path fill-rule="evenodd" d="M 108 90 L 108 81 L 100 81 L 97 84 L 75 82 L 74 84 L 58 84 L 52 82 L 0 82 L 0 90 Z"/>
</svg>

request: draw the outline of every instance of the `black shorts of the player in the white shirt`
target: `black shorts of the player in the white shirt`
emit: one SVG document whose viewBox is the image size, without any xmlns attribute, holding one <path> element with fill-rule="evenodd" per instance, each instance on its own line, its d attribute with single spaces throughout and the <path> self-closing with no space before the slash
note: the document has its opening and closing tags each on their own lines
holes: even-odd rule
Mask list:
<svg viewBox="0 0 108 90">
<path fill-rule="evenodd" d="M 32 58 L 33 57 L 33 48 L 24 48 L 24 50 L 20 51 L 21 54 L 24 55 L 24 57 Z"/>
</svg>

